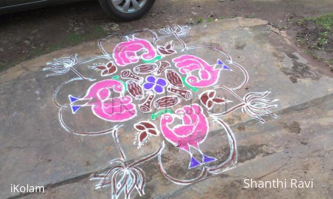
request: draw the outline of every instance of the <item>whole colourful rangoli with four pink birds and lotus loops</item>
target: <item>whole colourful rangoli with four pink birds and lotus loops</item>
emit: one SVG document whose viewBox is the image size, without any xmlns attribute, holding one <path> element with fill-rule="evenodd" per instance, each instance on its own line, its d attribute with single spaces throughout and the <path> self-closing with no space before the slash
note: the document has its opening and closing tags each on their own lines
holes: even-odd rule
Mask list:
<svg viewBox="0 0 333 199">
<path fill-rule="evenodd" d="M 105 45 L 111 44 L 103 44 L 108 38 L 102 39 L 98 42 L 100 56 L 78 62 L 79 56 L 74 54 L 54 59 L 44 69 L 51 72 L 47 77 L 75 74 L 61 83 L 53 96 L 60 125 L 66 131 L 78 136 L 112 135 L 120 157 L 110 162 L 112 168 L 107 172 L 91 178 L 99 180 L 96 189 L 110 187 L 112 198 L 130 198 L 135 190 L 143 195 L 146 180 L 141 166 L 154 158 L 161 174 L 179 185 L 231 169 L 237 163 L 236 137 L 223 117 L 235 111 L 261 123 L 266 116 L 276 117 L 271 109 L 277 107 L 277 99 L 268 98 L 270 92 L 244 94 L 241 89 L 249 80 L 245 68 L 220 47 L 190 46 L 185 42 L 189 31 L 187 26 L 144 30 L 123 37 L 110 53 Z M 140 33 L 147 38 L 140 38 Z M 202 52 L 212 56 L 203 58 Z M 234 78 L 229 78 L 231 75 Z M 68 122 L 70 117 L 91 114 L 110 127 L 82 130 L 84 127 L 76 129 Z M 220 134 L 226 134 L 230 148 L 222 160 L 221 156 L 209 156 L 202 147 L 210 142 L 214 124 Z M 159 147 L 148 156 L 130 160 L 121 147 L 120 129 L 133 138 L 133 151 L 144 149 L 151 140 Z M 170 174 L 163 161 L 170 147 L 181 149 L 178 153 L 188 157 L 184 160 L 187 169 L 199 171 L 196 176 L 181 179 Z"/>
</svg>

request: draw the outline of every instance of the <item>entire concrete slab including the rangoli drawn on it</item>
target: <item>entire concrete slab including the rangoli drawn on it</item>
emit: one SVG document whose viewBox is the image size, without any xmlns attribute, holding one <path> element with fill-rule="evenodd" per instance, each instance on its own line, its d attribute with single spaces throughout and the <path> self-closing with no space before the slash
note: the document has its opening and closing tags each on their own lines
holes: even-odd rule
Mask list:
<svg viewBox="0 0 333 199">
<path fill-rule="evenodd" d="M 235 18 L 20 63 L 0 75 L 0 197 L 331 198 L 333 79 L 292 43 Z"/>
</svg>

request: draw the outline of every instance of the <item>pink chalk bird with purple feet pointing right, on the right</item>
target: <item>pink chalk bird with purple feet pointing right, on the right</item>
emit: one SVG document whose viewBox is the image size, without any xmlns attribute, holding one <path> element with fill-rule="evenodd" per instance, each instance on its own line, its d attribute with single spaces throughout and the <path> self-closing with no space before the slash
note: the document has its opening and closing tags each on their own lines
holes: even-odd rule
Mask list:
<svg viewBox="0 0 333 199">
<path fill-rule="evenodd" d="M 172 61 L 175 63 L 176 67 L 179 68 L 180 73 L 189 75 L 186 77 L 185 81 L 195 87 L 214 85 L 219 79 L 221 70 L 232 71 L 220 59 L 217 59 L 215 65 L 210 65 L 205 60 L 194 55 L 181 55 L 174 58 Z M 218 65 L 221 65 L 221 68 L 216 69 Z M 191 75 L 193 71 L 198 71 L 200 78 Z"/>
</svg>

